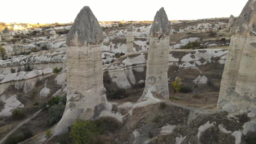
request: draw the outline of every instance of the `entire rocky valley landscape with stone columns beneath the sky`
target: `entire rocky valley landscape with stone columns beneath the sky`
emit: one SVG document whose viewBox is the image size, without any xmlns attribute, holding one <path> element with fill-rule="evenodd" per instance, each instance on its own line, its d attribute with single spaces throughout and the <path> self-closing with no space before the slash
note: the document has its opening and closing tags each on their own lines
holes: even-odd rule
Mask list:
<svg viewBox="0 0 256 144">
<path fill-rule="evenodd" d="M 77 118 L 101 123 L 96 143 L 254 144 L 252 7 L 119 22 L 84 7 L 69 24 L 0 23 L 0 144 L 71 143 Z"/>
</svg>

